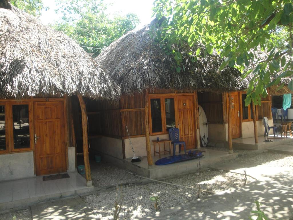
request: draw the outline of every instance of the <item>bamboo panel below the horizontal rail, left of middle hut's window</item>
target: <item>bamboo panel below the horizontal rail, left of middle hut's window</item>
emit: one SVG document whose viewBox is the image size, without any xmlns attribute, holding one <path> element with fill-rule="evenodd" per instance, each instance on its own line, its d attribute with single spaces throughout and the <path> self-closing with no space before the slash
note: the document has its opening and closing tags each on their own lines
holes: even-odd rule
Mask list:
<svg viewBox="0 0 293 220">
<path fill-rule="evenodd" d="M 145 134 L 144 111 L 127 111 L 123 114 L 130 136 Z"/>
</svg>

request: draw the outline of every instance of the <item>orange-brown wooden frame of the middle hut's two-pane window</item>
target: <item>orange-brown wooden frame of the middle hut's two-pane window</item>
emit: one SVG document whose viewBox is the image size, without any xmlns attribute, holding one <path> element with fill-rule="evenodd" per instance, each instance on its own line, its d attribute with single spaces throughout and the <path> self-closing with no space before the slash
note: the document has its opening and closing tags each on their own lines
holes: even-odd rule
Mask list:
<svg viewBox="0 0 293 220">
<path fill-rule="evenodd" d="M 161 120 L 162 120 L 162 131 L 153 132 L 153 126 L 151 121 L 151 99 L 160 99 L 161 102 Z M 175 122 L 177 122 L 177 113 L 176 113 L 176 95 L 168 94 L 149 94 L 149 134 L 152 136 L 168 134 L 166 131 L 166 109 L 165 109 L 165 99 L 174 99 L 174 111 L 175 111 Z"/>
</svg>

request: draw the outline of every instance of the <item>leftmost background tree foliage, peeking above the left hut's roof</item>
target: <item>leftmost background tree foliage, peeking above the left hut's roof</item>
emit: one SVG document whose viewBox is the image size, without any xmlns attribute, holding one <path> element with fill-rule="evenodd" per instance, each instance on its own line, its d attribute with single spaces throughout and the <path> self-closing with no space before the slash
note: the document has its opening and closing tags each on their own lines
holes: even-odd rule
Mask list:
<svg viewBox="0 0 293 220">
<path fill-rule="evenodd" d="M 11 0 L 11 4 L 33 16 L 40 16 L 44 5 L 42 0 Z"/>
</svg>

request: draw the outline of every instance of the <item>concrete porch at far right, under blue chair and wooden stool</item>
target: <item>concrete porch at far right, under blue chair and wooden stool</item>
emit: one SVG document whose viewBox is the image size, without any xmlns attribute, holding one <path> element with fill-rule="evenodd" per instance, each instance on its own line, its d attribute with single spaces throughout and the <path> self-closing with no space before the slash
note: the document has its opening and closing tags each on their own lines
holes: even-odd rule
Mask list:
<svg viewBox="0 0 293 220">
<path fill-rule="evenodd" d="M 282 137 L 276 135 L 276 139 L 274 139 L 274 135 L 270 134 L 268 136 L 268 140 L 271 142 L 264 142 L 265 137 L 258 136 L 258 143 L 256 144 L 254 141 L 254 137 L 251 138 L 236 138 L 232 139 L 233 149 L 243 149 L 243 150 L 265 150 L 267 148 L 274 147 L 276 145 L 283 145 L 290 142 L 293 142 L 293 137 Z M 228 144 L 228 142 L 227 142 Z"/>
</svg>

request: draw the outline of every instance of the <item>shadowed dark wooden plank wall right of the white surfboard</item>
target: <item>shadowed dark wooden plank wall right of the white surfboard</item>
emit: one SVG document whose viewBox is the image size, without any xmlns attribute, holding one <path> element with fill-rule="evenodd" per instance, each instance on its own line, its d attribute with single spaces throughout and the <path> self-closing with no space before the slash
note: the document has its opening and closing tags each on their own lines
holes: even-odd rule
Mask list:
<svg viewBox="0 0 293 220">
<path fill-rule="evenodd" d="M 202 106 L 209 123 L 224 123 L 222 94 L 214 92 L 197 92 L 198 104 Z"/>
</svg>

